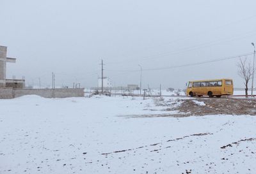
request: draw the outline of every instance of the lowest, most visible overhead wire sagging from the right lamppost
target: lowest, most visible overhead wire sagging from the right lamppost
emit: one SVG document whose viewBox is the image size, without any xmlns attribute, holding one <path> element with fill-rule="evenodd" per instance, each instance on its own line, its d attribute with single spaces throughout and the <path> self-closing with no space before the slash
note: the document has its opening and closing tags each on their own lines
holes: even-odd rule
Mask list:
<svg viewBox="0 0 256 174">
<path fill-rule="evenodd" d="M 213 59 L 211 61 L 196 62 L 196 63 L 191 63 L 191 64 L 182 64 L 182 65 L 179 65 L 179 66 L 166 66 L 166 67 L 162 67 L 162 68 L 148 68 L 148 69 L 143 69 L 142 71 L 156 71 L 156 70 L 164 70 L 164 69 L 182 68 L 182 67 L 186 67 L 186 66 L 195 66 L 195 65 L 207 64 L 207 63 L 211 63 L 211 62 L 225 61 L 225 60 L 228 60 L 228 59 L 237 59 L 239 57 L 243 57 L 243 56 L 247 56 L 247 55 L 253 55 L 253 53 L 250 52 L 250 53 L 236 55 L 236 56 L 222 57 L 222 58 L 219 58 L 219 59 Z M 139 70 L 139 69 L 138 70 L 113 70 L 113 69 L 106 69 L 106 71 L 138 72 L 138 71 L 141 71 L 141 70 Z"/>
</svg>

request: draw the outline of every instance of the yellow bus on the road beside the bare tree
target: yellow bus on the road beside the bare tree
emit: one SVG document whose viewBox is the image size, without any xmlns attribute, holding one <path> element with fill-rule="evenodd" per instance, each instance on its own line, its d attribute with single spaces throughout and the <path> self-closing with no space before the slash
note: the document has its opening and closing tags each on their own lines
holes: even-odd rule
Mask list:
<svg viewBox="0 0 256 174">
<path fill-rule="evenodd" d="M 188 82 L 187 96 L 216 96 L 233 95 L 234 87 L 232 79 L 196 80 Z"/>
</svg>

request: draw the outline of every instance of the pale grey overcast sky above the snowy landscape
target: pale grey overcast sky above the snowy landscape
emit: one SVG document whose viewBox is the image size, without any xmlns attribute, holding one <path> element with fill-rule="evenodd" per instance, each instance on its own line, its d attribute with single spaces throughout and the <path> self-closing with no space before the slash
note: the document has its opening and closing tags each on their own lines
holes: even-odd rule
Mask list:
<svg viewBox="0 0 256 174">
<path fill-rule="evenodd" d="M 7 76 L 28 85 L 139 84 L 143 69 L 182 66 L 253 52 L 256 1 L 0 0 L 0 45 L 8 47 Z M 248 56 L 252 61 L 253 55 Z M 233 78 L 239 59 L 143 71 L 143 87 L 184 88 L 189 80 Z"/>
</svg>

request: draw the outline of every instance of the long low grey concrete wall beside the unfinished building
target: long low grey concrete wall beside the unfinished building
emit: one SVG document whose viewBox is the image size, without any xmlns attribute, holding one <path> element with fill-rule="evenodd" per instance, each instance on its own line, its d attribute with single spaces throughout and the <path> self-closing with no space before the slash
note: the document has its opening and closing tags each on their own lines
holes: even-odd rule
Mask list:
<svg viewBox="0 0 256 174">
<path fill-rule="evenodd" d="M 26 95 L 37 95 L 43 98 L 83 97 L 84 89 L 13 89 L 15 98 Z"/>
</svg>

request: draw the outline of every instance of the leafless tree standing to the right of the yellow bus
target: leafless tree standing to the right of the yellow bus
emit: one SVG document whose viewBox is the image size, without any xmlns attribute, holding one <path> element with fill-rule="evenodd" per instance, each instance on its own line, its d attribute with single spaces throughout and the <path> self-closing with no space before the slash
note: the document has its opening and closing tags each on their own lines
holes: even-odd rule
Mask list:
<svg viewBox="0 0 256 174">
<path fill-rule="evenodd" d="M 250 66 L 250 62 L 246 62 L 246 58 L 242 60 L 240 58 L 239 63 L 237 64 L 238 67 L 238 75 L 241 76 L 244 80 L 244 85 L 245 85 L 245 96 L 248 98 L 248 83 L 250 79 L 252 78 L 252 66 Z"/>
</svg>

